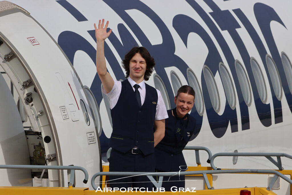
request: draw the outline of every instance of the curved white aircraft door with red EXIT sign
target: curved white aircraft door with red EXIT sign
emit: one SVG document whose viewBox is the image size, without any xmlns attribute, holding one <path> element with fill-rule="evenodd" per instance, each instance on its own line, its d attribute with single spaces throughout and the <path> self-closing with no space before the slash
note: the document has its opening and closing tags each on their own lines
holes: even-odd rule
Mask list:
<svg viewBox="0 0 292 195">
<path fill-rule="evenodd" d="M 0 65 L 15 85 L 32 131 L 44 141 L 46 164 L 81 166 L 91 178 L 101 170 L 99 132 L 73 66 L 25 10 L 0 11 L 0 29 Z M 66 170 L 48 170 L 48 177 L 49 186 L 67 186 Z M 92 188 L 83 184 L 83 172 L 75 171 L 75 178 L 76 187 Z"/>
</svg>

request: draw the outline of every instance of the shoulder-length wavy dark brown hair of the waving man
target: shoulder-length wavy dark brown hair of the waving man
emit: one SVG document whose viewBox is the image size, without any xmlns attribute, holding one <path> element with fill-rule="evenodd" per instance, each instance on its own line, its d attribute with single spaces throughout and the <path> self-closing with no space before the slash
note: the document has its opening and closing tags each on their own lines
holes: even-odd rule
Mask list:
<svg viewBox="0 0 292 195">
<path fill-rule="evenodd" d="M 123 68 L 126 70 L 126 78 L 130 75 L 130 60 L 135 56 L 135 54 L 139 53 L 142 58 L 146 61 L 146 71 L 144 74 L 144 80 L 149 80 L 149 77 L 151 76 L 155 62 L 154 58 L 151 57 L 149 51 L 145 47 L 133 47 L 131 51 L 128 52 L 128 54 L 125 55 L 125 59 L 122 61 Z"/>
</svg>

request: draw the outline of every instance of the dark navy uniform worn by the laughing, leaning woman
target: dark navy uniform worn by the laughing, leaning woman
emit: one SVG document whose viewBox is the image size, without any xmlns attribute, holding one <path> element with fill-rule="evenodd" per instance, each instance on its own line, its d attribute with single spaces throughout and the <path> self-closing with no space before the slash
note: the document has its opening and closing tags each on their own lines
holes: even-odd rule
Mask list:
<svg viewBox="0 0 292 195">
<path fill-rule="evenodd" d="M 186 131 L 188 132 L 189 139 L 185 141 L 177 141 L 175 137 L 176 118 L 172 115 L 172 110 L 168 110 L 168 118 L 165 119 L 165 136 L 155 146 L 155 169 L 164 172 L 179 171 L 180 166 L 186 166 L 185 158 L 183 156 L 183 149 L 187 145 L 190 137 L 192 136 L 196 120 L 188 115 L 188 122 L 185 124 Z M 182 167 L 185 169 L 186 167 Z"/>
</svg>

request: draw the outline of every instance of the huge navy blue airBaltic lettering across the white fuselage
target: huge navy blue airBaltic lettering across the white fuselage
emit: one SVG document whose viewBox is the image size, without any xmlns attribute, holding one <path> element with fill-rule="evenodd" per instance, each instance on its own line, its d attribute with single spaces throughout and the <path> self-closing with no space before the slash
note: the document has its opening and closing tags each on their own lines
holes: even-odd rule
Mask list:
<svg viewBox="0 0 292 195">
<path fill-rule="evenodd" d="M 171 102 L 171 106 L 173 107 L 174 106 L 173 91 L 172 91 L 171 83 L 168 79 L 167 73 L 165 71 L 165 68 L 169 67 L 170 64 L 177 65 L 177 68 L 180 70 L 180 72 L 184 75 L 185 78 L 187 78 L 187 68 L 189 68 L 189 65 L 179 56 L 174 54 L 175 43 L 174 43 L 174 39 L 170 30 L 165 25 L 164 21 L 157 15 L 157 13 L 155 13 L 150 7 L 148 7 L 146 4 L 144 4 L 141 1 L 130 1 L 130 0 L 117 1 L 117 2 L 110 1 L 110 0 L 103 0 L 103 1 L 118 14 L 121 17 L 121 19 L 125 22 L 125 24 L 128 26 L 126 27 L 123 23 L 118 24 L 118 31 L 112 32 L 112 34 L 109 36 L 109 41 L 114 46 L 119 56 L 123 58 L 124 54 L 127 51 L 129 51 L 129 49 L 131 49 L 133 45 L 138 45 L 133 35 L 129 32 L 128 28 L 131 29 L 131 31 L 135 34 L 135 37 L 137 37 L 139 42 L 142 44 L 142 46 L 145 46 L 150 51 L 150 53 L 155 56 L 155 62 L 159 64 L 155 67 L 155 71 L 164 81 L 166 91 L 168 92 L 169 100 Z M 202 92 L 204 96 L 206 115 L 208 118 L 211 131 L 214 134 L 214 136 L 217 138 L 222 137 L 225 134 L 229 123 L 231 126 L 231 132 L 237 132 L 238 125 L 241 125 L 242 130 L 250 129 L 250 124 L 249 124 L 250 117 L 248 113 L 248 106 L 246 105 L 243 99 L 243 94 L 241 92 L 239 80 L 237 78 L 237 73 L 234 66 L 235 58 L 231 52 L 229 45 L 227 44 L 227 41 L 224 39 L 222 35 L 222 31 L 226 31 L 230 34 L 230 37 L 234 41 L 234 44 L 237 47 L 239 54 L 242 58 L 241 63 L 245 65 L 247 75 L 249 76 L 249 80 L 251 82 L 254 104 L 255 104 L 256 112 L 257 112 L 260 122 L 265 127 L 268 127 L 272 124 L 272 118 L 271 118 L 272 109 L 274 110 L 275 123 L 282 122 L 281 101 L 277 99 L 274 93 L 271 79 L 269 76 L 268 76 L 268 80 L 270 84 L 270 91 L 272 92 L 272 101 L 273 101 L 274 107 L 271 108 L 270 103 L 265 104 L 260 100 L 260 97 L 256 88 L 255 78 L 253 77 L 253 72 L 251 69 L 251 64 L 250 64 L 251 56 L 249 56 L 247 52 L 247 48 L 244 45 L 243 40 L 237 33 L 237 29 L 239 28 L 245 28 L 247 30 L 249 36 L 253 40 L 253 43 L 258 50 L 258 53 L 260 54 L 260 59 L 257 59 L 257 60 L 262 61 L 265 67 L 264 71 L 266 71 L 267 75 L 269 75 L 268 70 L 267 70 L 267 64 L 265 62 L 265 55 L 267 54 L 267 51 L 264 48 L 264 44 L 262 40 L 259 38 L 258 32 L 256 32 L 254 27 L 251 25 L 251 22 L 248 20 L 246 15 L 241 11 L 241 9 L 221 10 L 214 1 L 204 0 L 205 3 L 212 10 L 212 12 L 210 13 L 211 15 L 210 16 L 196 1 L 194 0 L 186 0 L 186 1 L 194 9 L 194 11 L 200 15 L 201 19 L 209 28 L 209 31 L 211 32 L 212 35 L 210 35 L 210 33 L 208 34 L 207 31 L 204 29 L 204 27 L 202 27 L 196 20 L 184 14 L 178 14 L 173 17 L 173 20 L 172 20 L 173 28 L 176 30 L 176 32 L 178 33 L 178 35 L 180 36 L 181 40 L 184 42 L 186 47 L 188 43 L 188 35 L 190 33 L 192 32 L 196 33 L 197 35 L 201 37 L 201 39 L 204 41 L 209 51 L 209 54 L 206 57 L 204 64 L 210 68 L 213 75 L 219 72 L 218 64 L 223 61 L 221 55 L 219 54 L 219 49 L 223 51 L 223 56 L 226 59 L 230 68 L 230 75 L 234 80 L 234 86 L 236 88 L 237 98 L 239 101 L 239 108 L 232 110 L 226 99 L 225 108 L 223 108 L 224 112 L 220 115 L 216 113 L 212 107 L 211 99 L 208 93 L 206 81 L 205 81 L 204 74 L 202 71 L 201 73 L 202 87 L 201 88 L 202 88 Z M 136 9 L 142 12 L 150 20 L 153 21 L 153 23 L 158 27 L 161 33 L 161 36 L 162 36 L 161 44 L 156 44 L 156 45 L 151 44 L 150 40 L 142 32 L 140 27 L 128 15 L 128 13 L 126 13 L 126 10 L 131 10 L 131 9 Z M 277 50 L 277 46 L 271 34 L 270 21 L 274 20 L 278 22 L 279 24 L 283 25 L 284 27 L 285 25 L 281 21 L 279 15 L 270 6 L 267 6 L 262 3 L 256 3 L 254 4 L 253 11 L 254 11 L 256 20 L 258 22 L 258 25 L 261 29 L 261 33 L 264 35 L 266 44 L 271 51 L 271 56 L 274 58 L 277 68 L 279 70 L 279 75 L 281 78 L 281 82 L 283 84 L 284 94 L 288 101 L 288 106 L 290 107 L 291 112 L 292 112 L 292 95 L 289 92 L 288 83 L 287 83 L 286 76 L 284 73 L 284 68 L 281 62 L 281 57 L 279 55 L 281 51 Z M 231 12 L 234 12 L 238 18 L 235 18 Z M 263 14 L 269 15 L 269 17 L 261 17 L 261 15 Z M 239 25 L 239 22 L 242 23 L 243 26 Z M 220 29 L 217 27 L 217 25 Z M 94 30 L 89 30 L 88 33 L 95 40 Z M 117 35 L 115 33 L 119 33 L 121 42 L 117 38 Z M 218 46 L 215 45 L 215 43 L 211 39 L 211 36 L 215 37 L 220 48 L 217 48 Z M 60 33 L 58 37 L 58 44 L 61 46 L 61 48 L 63 49 L 65 54 L 68 56 L 72 64 L 73 64 L 75 52 L 78 50 L 81 50 L 87 53 L 88 56 L 90 56 L 90 58 L 92 59 L 92 61 L 95 63 L 95 53 L 96 53 L 95 48 L 91 45 L 91 43 L 89 43 L 86 39 L 81 37 L 79 34 L 76 34 L 75 32 L 71 32 L 71 31 L 64 31 Z M 159 54 L 159 55 L 155 55 L 155 54 Z M 114 74 L 117 80 L 120 80 L 120 79 L 124 80 L 124 72 L 121 69 L 119 61 L 114 56 L 114 53 L 111 51 L 111 49 L 106 43 L 105 43 L 105 56 L 112 70 L 114 71 Z M 201 66 L 203 67 L 204 64 L 201 64 Z M 100 85 L 101 85 L 101 81 L 99 77 L 95 76 L 93 80 L 93 84 L 91 86 L 91 91 L 95 95 L 95 98 L 98 104 L 100 104 L 100 102 L 102 101 Z M 238 112 L 240 112 L 239 115 L 241 116 L 241 124 L 237 123 Z M 191 115 L 193 115 L 197 120 L 197 129 L 194 132 L 194 135 L 191 137 L 191 140 L 192 140 L 199 134 L 201 130 L 203 116 L 200 116 L 198 114 L 195 107 L 192 109 Z M 100 140 L 109 141 L 109 139 L 105 136 L 104 133 L 102 133 L 102 135 L 100 136 Z"/>
</svg>

